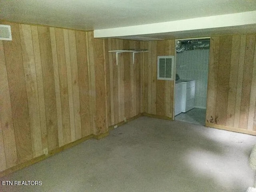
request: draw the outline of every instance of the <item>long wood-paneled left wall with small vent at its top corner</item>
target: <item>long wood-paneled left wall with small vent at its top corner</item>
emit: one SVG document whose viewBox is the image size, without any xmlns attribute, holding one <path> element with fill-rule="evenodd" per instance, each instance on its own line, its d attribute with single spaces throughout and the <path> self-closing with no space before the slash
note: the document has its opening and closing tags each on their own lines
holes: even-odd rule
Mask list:
<svg viewBox="0 0 256 192">
<path fill-rule="evenodd" d="M 0 40 L 0 171 L 108 131 L 104 40 L 8 24 Z"/>
</svg>

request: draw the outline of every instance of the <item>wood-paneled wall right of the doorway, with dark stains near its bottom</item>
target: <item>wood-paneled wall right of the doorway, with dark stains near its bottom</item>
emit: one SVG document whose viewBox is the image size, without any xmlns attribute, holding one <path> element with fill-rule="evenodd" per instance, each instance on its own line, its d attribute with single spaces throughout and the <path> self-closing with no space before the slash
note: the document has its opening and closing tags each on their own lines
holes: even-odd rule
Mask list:
<svg viewBox="0 0 256 192">
<path fill-rule="evenodd" d="M 256 34 L 211 38 L 206 125 L 256 134 Z"/>
</svg>

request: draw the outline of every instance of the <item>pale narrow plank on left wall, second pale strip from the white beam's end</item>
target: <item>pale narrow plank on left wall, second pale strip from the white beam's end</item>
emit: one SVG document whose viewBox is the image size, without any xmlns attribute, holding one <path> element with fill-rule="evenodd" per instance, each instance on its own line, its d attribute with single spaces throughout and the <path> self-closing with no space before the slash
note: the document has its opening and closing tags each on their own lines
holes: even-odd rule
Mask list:
<svg viewBox="0 0 256 192">
<path fill-rule="evenodd" d="M 76 57 L 76 34 L 74 30 L 68 30 L 70 64 L 72 74 L 72 94 L 74 105 L 74 121 L 75 121 L 75 140 L 82 138 L 81 116 L 80 116 L 80 96 L 78 81 L 78 65 Z"/>
</svg>

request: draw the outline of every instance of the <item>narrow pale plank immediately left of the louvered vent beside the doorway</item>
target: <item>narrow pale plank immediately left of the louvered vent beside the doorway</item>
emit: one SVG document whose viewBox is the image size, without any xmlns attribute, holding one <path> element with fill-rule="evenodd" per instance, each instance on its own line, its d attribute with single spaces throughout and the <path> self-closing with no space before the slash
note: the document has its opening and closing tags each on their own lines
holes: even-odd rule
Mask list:
<svg viewBox="0 0 256 192">
<path fill-rule="evenodd" d="M 151 52 L 151 114 L 156 114 L 156 79 L 157 79 L 157 53 L 156 41 L 152 42 Z"/>
</svg>

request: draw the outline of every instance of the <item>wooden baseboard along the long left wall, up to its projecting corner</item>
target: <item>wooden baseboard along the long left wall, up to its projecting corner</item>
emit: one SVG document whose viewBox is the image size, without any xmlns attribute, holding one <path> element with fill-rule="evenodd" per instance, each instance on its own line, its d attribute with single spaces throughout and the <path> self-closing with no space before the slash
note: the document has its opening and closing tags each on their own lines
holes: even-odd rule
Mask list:
<svg viewBox="0 0 256 192">
<path fill-rule="evenodd" d="M 30 165 L 32 165 L 32 164 L 35 164 L 35 163 L 37 163 L 37 162 L 40 162 L 40 161 L 42 161 L 42 160 L 44 160 L 44 159 L 46 159 L 46 158 L 49 158 L 49 157 L 53 156 L 53 155 L 56 154 L 56 153 L 59 153 L 59 152 L 61 152 L 61 151 L 63 151 L 63 150 L 66 150 L 66 149 L 68 149 L 68 148 L 71 148 L 71 147 L 73 147 L 73 146 L 76 146 L 76 145 L 78 145 L 78 144 L 80 144 L 80 143 L 82 143 L 82 142 L 84 142 L 84 141 L 86 141 L 86 140 L 89 140 L 89 139 L 92 139 L 92 138 L 99 140 L 99 139 L 101 139 L 101 138 L 104 138 L 104 137 L 108 136 L 108 134 L 109 134 L 109 132 L 105 132 L 105 133 L 102 133 L 102 134 L 100 134 L 100 135 L 90 134 L 90 135 L 85 136 L 85 137 L 83 137 L 83 138 L 81 138 L 81 139 L 78 139 L 78 140 L 76 140 L 76 141 L 74 141 L 74 142 L 68 143 L 68 144 L 66 144 L 66 145 L 64 145 L 64 146 L 60 146 L 60 147 L 58 147 L 58 148 L 56 148 L 56 149 L 54 149 L 54 150 L 51 150 L 51 151 L 49 151 L 48 154 L 43 154 L 43 155 L 41 155 L 41 156 L 38 156 L 38 157 L 36 157 L 36 158 L 33 158 L 33 159 L 31 159 L 31 160 L 28 160 L 28 161 L 26 161 L 26 162 L 23 162 L 23 163 L 21 163 L 21 164 L 18 164 L 18 165 L 16 165 L 16 166 L 10 167 L 10 168 L 8 168 L 8 169 L 6 169 L 6 170 L 0 172 L 0 177 L 6 176 L 6 175 L 11 174 L 11 173 L 13 173 L 13 172 L 16 172 L 16 171 L 18 171 L 18 170 L 20 170 L 20 169 L 23 169 L 23 168 L 25 168 L 25 167 L 28 167 L 28 166 L 30 166 Z"/>
</svg>

